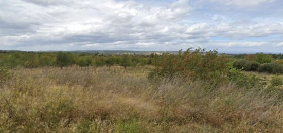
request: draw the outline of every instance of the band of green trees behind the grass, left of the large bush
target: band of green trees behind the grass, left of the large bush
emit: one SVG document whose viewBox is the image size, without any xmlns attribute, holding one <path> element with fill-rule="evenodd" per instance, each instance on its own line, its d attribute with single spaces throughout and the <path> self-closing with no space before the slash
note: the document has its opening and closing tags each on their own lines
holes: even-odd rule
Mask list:
<svg viewBox="0 0 283 133">
<path fill-rule="evenodd" d="M 152 58 L 146 55 L 99 55 L 78 53 L 36 53 L 36 52 L 6 52 L 0 53 L 0 61 L 10 67 L 23 66 L 36 68 L 39 66 L 67 67 L 70 65 L 113 66 L 123 67 L 150 65 Z"/>
</svg>

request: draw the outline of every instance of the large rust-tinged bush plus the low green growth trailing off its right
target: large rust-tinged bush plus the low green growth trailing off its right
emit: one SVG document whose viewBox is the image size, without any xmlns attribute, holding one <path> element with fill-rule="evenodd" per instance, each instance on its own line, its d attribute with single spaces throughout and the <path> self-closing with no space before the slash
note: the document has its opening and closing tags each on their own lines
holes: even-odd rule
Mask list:
<svg viewBox="0 0 283 133">
<path fill-rule="evenodd" d="M 185 81 L 204 81 L 210 86 L 233 82 L 239 87 L 253 88 L 266 84 L 253 74 L 245 74 L 233 67 L 233 59 L 216 50 L 188 49 L 178 55 L 169 53 L 155 56 L 155 69 L 149 73 L 150 80 L 181 77 Z M 244 65 L 257 67 L 257 63 Z"/>
</svg>

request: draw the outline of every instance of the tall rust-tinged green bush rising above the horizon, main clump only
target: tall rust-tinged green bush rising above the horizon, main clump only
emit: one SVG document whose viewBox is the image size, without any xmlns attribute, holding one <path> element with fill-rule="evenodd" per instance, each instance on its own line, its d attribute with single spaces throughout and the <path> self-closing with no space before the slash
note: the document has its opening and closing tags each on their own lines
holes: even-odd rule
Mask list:
<svg viewBox="0 0 283 133">
<path fill-rule="evenodd" d="M 217 55 L 217 51 L 202 49 L 179 52 L 178 55 L 165 53 L 161 58 L 155 57 L 155 77 L 181 76 L 184 79 L 219 80 L 229 73 L 229 59 L 225 55 Z M 149 78 L 154 73 L 150 73 Z"/>
</svg>

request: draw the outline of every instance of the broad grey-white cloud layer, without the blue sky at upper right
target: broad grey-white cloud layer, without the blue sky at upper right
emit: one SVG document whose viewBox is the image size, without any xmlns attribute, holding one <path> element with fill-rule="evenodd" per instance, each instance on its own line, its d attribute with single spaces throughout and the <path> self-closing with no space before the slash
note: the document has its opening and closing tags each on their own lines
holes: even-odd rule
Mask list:
<svg viewBox="0 0 283 133">
<path fill-rule="evenodd" d="M 184 20 L 190 19 L 189 14 L 194 10 L 185 0 L 167 6 L 111 0 L 73 1 L 67 6 L 66 1 L 11 1 L 5 3 L 9 7 L 0 5 L 3 7 L 0 9 L 0 49 L 257 47 L 265 44 L 237 40 L 283 35 L 283 23 L 223 22 L 226 18 L 220 15 L 211 19 L 217 23 L 188 24 Z M 22 12 L 17 4 L 24 5 Z M 216 42 L 213 37 L 226 37 L 232 43 Z"/>
</svg>

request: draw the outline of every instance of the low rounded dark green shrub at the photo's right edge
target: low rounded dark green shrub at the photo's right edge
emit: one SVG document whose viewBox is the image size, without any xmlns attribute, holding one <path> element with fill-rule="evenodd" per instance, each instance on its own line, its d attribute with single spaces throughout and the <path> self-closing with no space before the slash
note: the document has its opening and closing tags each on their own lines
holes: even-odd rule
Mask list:
<svg viewBox="0 0 283 133">
<path fill-rule="evenodd" d="M 264 63 L 258 68 L 259 72 L 282 73 L 281 66 L 275 63 Z"/>
</svg>

